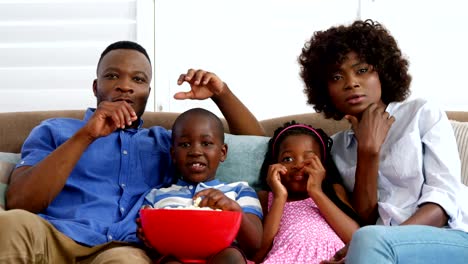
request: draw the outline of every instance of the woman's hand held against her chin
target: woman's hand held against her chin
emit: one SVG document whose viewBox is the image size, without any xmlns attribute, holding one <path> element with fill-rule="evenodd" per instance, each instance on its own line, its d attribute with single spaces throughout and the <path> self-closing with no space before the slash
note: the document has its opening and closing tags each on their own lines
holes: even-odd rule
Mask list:
<svg viewBox="0 0 468 264">
<path fill-rule="evenodd" d="M 371 104 L 362 113 L 361 120 L 345 116 L 351 123 L 361 150 L 379 153 L 395 118 L 385 112 L 385 105 Z"/>
</svg>

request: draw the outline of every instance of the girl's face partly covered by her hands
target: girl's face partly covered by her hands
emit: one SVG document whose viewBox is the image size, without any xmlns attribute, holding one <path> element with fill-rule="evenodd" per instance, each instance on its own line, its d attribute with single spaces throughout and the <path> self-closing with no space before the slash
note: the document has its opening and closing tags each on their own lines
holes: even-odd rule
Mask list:
<svg viewBox="0 0 468 264">
<path fill-rule="evenodd" d="M 278 163 L 287 169 L 287 173 L 281 175 L 281 183 L 290 194 L 307 195 L 309 175 L 306 175 L 303 169 L 313 156 L 322 158 L 321 149 L 321 144 L 311 135 L 290 135 L 281 142 Z"/>
</svg>

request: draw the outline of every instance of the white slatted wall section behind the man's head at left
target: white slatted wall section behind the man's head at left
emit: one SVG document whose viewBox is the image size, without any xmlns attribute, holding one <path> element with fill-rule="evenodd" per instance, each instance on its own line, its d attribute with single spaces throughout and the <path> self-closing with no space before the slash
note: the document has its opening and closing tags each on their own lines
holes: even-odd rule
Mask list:
<svg viewBox="0 0 468 264">
<path fill-rule="evenodd" d="M 152 0 L 0 0 L 0 112 L 95 106 L 101 52 L 133 40 L 154 56 L 153 15 Z"/>
</svg>

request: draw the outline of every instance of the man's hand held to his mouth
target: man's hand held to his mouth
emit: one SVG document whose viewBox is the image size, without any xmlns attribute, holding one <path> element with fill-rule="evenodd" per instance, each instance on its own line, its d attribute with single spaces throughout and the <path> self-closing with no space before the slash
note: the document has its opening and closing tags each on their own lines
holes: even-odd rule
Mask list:
<svg viewBox="0 0 468 264">
<path fill-rule="evenodd" d="M 93 116 L 85 126 L 88 136 L 95 140 L 131 126 L 138 117 L 133 108 L 125 101 L 99 103 Z"/>
</svg>

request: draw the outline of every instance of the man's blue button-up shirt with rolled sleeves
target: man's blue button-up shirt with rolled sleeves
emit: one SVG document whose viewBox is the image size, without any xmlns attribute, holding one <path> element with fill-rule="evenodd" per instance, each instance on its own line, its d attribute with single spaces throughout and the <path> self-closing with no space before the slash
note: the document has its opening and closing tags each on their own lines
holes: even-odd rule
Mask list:
<svg viewBox="0 0 468 264">
<path fill-rule="evenodd" d="M 22 161 L 33 166 L 74 135 L 84 120 L 54 118 L 35 127 L 24 142 Z M 99 245 L 139 242 L 135 219 L 145 194 L 172 183 L 170 132 L 162 127 L 119 129 L 94 141 L 63 190 L 39 215 L 73 240 Z"/>
</svg>

